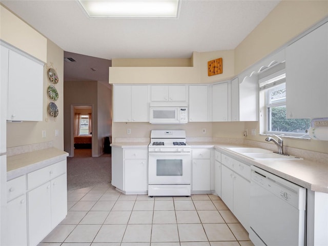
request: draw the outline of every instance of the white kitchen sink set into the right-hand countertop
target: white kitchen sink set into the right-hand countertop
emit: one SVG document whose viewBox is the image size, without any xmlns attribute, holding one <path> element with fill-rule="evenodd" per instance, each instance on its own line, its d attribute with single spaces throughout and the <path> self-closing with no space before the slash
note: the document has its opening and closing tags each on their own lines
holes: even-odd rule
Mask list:
<svg viewBox="0 0 328 246">
<path fill-rule="evenodd" d="M 293 155 L 280 155 L 272 152 L 271 150 L 266 150 L 261 148 L 240 147 L 240 148 L 226 148 L 226 149 L 254 160 L 302 160 L 303 159 Z"/>
</svg>

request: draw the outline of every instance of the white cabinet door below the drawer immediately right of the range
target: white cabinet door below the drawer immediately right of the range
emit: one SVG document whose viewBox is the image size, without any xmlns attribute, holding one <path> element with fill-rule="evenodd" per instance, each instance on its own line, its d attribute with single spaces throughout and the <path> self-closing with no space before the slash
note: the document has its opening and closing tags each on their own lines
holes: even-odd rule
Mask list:
<svg viewBox="0 0 328 246">
<path fill-rule="evenodd" d="M 207 159 L 194 159 L 192 163 L 192 190 L 211 190 L 211 161 Z"/>
</svg>

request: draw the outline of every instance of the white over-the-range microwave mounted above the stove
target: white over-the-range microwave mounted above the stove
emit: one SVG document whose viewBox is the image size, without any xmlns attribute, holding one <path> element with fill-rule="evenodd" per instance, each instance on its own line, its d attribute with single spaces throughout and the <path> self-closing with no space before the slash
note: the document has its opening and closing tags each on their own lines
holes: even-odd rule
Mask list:
<svg viewBox="0 0 328 246">
<path fill-rule="evenodd" d="M 188 105 L 174 103 L 151 103 L 149 107 L 151 124 L 188 123 Z"/>
</svg>

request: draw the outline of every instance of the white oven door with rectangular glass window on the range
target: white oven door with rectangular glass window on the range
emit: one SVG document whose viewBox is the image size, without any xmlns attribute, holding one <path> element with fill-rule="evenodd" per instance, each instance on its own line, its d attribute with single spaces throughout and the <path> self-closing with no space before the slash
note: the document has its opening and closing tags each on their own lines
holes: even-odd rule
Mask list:
<svg viewBox="0 0 328 246">
<path fill-rule="evenodd" d="M 191 154 L 153 153 L 148 154 L 149 185 L 190 185 Z"/>
</svg>

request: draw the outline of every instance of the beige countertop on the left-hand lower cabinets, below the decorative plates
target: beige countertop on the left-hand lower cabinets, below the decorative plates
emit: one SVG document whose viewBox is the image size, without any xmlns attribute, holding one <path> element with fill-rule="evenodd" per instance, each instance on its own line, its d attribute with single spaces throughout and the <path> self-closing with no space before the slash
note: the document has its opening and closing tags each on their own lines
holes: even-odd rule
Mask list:
<svg viewBox="0 0 328 246">
<path fill-rule="evenodd" d="M 26 152 L 7 157 L 7 180 L 66 160 L 68 153 L 56 148 Z"/>
</svg>

